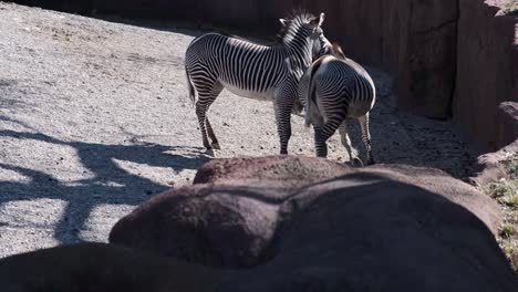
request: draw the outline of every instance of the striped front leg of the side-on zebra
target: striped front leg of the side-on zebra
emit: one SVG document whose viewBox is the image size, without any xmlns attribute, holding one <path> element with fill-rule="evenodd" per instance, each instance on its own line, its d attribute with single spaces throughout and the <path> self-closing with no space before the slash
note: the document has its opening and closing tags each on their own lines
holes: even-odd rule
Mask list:
<svg viewBox="0 0 518 292">
<path fill-rule="evenodd" d="M 293 88 L 297 88 L 293 86 Z M 291 137 L 291 111 L 294 105 L 297 90 L 279 91 L 273 101 L 273 109 L 276 112 L 277 132 L 280 139 L 280 154 L 288 154 L 288 142 Z"/>
</svg>

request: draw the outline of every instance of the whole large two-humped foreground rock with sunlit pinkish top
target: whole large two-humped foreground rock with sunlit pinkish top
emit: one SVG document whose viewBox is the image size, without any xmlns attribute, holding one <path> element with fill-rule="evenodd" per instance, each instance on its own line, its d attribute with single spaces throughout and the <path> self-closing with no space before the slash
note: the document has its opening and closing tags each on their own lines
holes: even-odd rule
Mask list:
<svg viewBox="0 0 518 292">
<path fill-rule="evenodd" d="M 442 171 L 284 156 L 213 160 L 195 182 L 142 205 L 110 241 L 248 268 L 221 291 L 518 289 L 488 228 L 497 207 Z"/>
</svg>

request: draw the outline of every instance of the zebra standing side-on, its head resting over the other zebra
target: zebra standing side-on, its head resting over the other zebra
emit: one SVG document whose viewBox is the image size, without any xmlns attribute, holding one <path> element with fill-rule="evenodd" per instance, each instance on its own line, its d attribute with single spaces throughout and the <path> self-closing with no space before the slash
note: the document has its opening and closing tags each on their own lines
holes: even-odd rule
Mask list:
<svg viewBox="0 0 518 292">
<path fill-rule="evenodd" d="M 323 20 L 324 13 L 280 19 L 279 40 L 270 45 L 219 33 L 193 40 L 186 51 L 185 71 L 205 148 L 220 149 L 207 111 L 225 87 L 239 96 L 273 101 L 280 153 L 288 154 L 300 77 L 314 59 L 329 50 L 321 29 Z"/>
</svg>

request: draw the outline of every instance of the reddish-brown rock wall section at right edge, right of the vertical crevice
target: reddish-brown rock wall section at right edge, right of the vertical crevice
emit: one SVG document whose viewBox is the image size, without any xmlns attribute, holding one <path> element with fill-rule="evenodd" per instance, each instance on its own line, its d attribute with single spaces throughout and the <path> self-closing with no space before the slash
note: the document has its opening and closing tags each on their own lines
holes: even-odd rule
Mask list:
<svg viewBox="0 0 518 292">
<path fill-rule="evenodd" d="M 496 15 L 505 3 L 459 0 L 454 119 L 485 152 L 518 138 L 518 123 L 499 109 L 518 102 L 518 17 Z"/>
</svg>

